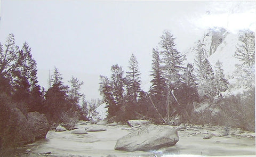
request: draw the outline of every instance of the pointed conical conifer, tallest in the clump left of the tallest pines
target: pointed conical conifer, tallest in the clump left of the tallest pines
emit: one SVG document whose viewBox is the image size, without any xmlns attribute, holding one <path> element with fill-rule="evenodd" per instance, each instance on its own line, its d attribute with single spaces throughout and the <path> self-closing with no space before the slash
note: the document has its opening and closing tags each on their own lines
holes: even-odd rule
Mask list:
<svg viewBox="0 0 256 157">
<path fill-rule="evenodd" d="M 137 102 L 140 93 L 140 71 L 138 62 L 134 54 L 132 54 L 129 60 L 129 70 L 126 72 L 126 88 L 127 88 L 127 100 L 129 102 Z"/>
</svg>

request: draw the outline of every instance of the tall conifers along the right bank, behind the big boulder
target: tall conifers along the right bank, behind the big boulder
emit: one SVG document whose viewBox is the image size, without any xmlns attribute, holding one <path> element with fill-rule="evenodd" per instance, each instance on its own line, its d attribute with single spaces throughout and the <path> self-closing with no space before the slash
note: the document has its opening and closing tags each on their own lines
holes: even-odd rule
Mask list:
<svg viewBox="0 0 256 157">
<path fill-rule="evenodd" d="M 254 67 L 254 32 L 240 31 L 239 41 L 242 44 L 237 45 L 235 57 L 243 64 L 236 65 L 237 70 L 250 71 Z M 175 47 L 174 36 L 164 30 L 158 46 L 151 52 L 152 79 L 146 92 L 141 89 L 141 73 L 134 54 L 130 57 L 128 71 L 124 72 L 118 64 L 112 65 L 110 78 L 100 76 L 99 87 L 108 107 L 108 119 L 124 122 L 138 118 L 173 123 L 180 116 L 188 122 L 194 114 L 195 103 L 221 99 L 222 93 L 231 88 L 223 73 L 222 62 L 217 61 L 213 70 L 200 40 L 193 51 L 196 54 L 194 63 L 185 64 L 186 56 Z M 252 76 L 247 79 L 251 80 Z M 240 84 L 241 79 L 236 77 L 236 80 Z M 248 86 L 254 87 L 252 84 Z"/>
</svg>

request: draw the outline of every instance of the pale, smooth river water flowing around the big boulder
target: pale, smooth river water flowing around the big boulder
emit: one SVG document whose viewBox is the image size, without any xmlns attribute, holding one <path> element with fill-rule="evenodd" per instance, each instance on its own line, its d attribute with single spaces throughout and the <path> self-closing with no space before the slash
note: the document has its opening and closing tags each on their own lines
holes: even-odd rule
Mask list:
<svg viewBox="0 0 256 157">
<path fill-rule="evenodd" d="M 87 128 L 92 125 L 79 125 L 78 128 Z M 189 135 L 186 131 L 178 131 L 180 140 L 172 147 L 162 148 L 151 152 L 123 152 L 115 151 L 114 147 L 118 138 L 129 134 L 132 130 L 126 125 L 107 126 L 107 131 L 89 132 L 85 135 L 70 134 L 71 131 L 49 131 L 45 139 L 22 148 L 25 152 L 30 148 L 30 154 L 22 156 L 196 156 L 208 155 L 244 155 L 255 156 L 255 138 L 236 138 L 231 136 L 212 137 L 203 139 L 204 135 Z M 126 128 L 126 129 L 124 129 Z"/>
</svg>

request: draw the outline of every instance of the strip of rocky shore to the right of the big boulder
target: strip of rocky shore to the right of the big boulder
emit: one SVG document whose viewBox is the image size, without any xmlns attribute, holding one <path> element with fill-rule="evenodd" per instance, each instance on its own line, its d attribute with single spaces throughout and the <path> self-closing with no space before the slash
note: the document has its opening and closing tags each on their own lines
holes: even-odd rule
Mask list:
<svg viewBox="0 0 256 157">
<path fill-rule="evenodd" d="M 181 123 L 178 127 L 175 127 L 178 131 L 183 131 L 183 133 L 187 133 L 188 135 L 205 135 L 204 139 L 209 139 L 212 136 L 218 137 L 247 137 L 247 138 L 255 138 L 255 133 L 250 133 L 249 131 L 243 131 L 240 128 L 226 128 L 224 126 L 209 126 L 209 125 L 187 125 Z"/>
</svg>

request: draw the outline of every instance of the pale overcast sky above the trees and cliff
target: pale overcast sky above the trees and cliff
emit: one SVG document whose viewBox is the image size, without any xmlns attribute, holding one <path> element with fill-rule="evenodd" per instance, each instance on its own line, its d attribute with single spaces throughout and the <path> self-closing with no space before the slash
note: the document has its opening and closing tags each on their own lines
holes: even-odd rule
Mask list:
<svg viewBox="0 0 256 157">
<path fill-rule="evenodd" d="M 151 49 L 163 30 L 176 37 L 181 52 L 209 27 L 255 30 L 255 1 L 1 1 L 0 42 L 8 34 L 21 47 L 28 42 L 38 80 L 47 89 L 49 70 L 66 82 L 84 81 L 86 98 L 100 98 L 99 75 L 113 64 L 126 71 L 132 53 L 139 62 L 142 88 L 148 90 Z"/>
</svg>

